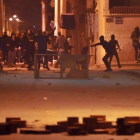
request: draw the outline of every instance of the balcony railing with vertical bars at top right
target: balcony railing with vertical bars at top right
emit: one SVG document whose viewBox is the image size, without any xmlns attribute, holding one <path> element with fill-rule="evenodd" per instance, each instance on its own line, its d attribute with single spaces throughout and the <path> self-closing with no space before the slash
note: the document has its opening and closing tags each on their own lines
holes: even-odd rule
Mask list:
<svg viewBox="0 0 140 140">
<path fill-rule="evenodd" d="M 140 15 L 140 6 L 114 6 L 110 9 L 112 15 Z"/>
</svg>

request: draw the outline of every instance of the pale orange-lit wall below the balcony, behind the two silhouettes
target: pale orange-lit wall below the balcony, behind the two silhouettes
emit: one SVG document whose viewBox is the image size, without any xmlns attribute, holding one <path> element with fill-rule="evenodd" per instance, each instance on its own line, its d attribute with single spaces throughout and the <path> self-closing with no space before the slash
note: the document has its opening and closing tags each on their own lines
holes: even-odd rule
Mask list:
<svg viewBox="0 0 140 140">
<path fill-rule="evenodd" d="M 114 34 L 119 41 L 122 51 L 119 52 L 121 62 L 134 61 L 134 49 L 131 33 L 136 26 L 140 26 L 139 17 L 123 17 L 123 24 L 115 24 L 115 17 L 113 22 L 105 23 L 105 38 L 110 40 L 110 36 Z M 116 61 L 116 59 L 114 59 Z"/>
</svg>

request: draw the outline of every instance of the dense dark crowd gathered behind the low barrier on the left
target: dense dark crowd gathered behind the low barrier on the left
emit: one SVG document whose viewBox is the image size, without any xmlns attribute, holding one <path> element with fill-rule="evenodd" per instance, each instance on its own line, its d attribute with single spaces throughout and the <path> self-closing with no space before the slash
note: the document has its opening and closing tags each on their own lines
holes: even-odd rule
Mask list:
<svg viewBox="0 0 140 140">
<path fill-rule="evenodd" d="M 3 36 L 0 38 L 0 48 L 2 51 L 4 65 L 8 67 L 15 67 L 16 63 L 27 64 L 28 70 L 33 68 L 34 65 L 34 54 L 68 54 L 70 53 L 71 46 L 68 40 L 58 32 L 58 36 L 54 41 L 55 28 L 50 33 L 38 31 L 38 34 L 34 34 L 32 30 L 23 34 L 12 33 L 8 36 L 4 32 Z M 49 46 L 49 48 L 47 47 Z M 42 59 L 44 58 L 44 59 Z M 55 67 L 58 67 L 59 56 L 55 56 L 57 63 Z M 43 68 L 50 70 L 48 65 L 48 60 L 52 60 L 52 56 L 38 56 L 38 69 L 40 69 L 41 62 L 43 63 Z M 2 65 L 1 65 L 2 66 Z"/>
</svg>

